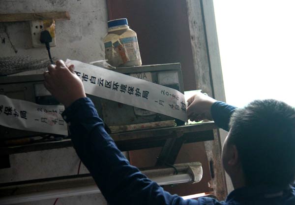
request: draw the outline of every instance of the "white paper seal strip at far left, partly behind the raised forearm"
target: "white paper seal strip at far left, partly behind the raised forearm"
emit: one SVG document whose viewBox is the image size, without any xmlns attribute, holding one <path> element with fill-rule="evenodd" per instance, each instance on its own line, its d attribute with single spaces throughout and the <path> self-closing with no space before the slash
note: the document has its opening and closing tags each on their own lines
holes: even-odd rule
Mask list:
<svg viewBox="0 0 295 205">
<path fill-rule="evenodd" d="M 0 125 L 40 133 L 68 135 L 62 105 L 40 105 L 0 95 Z"/>
</svg>

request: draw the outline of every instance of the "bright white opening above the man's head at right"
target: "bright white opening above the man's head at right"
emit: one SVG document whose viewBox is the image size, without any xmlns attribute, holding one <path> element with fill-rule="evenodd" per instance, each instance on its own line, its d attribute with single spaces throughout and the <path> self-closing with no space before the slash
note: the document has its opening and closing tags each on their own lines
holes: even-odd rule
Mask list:
<svg viewBox="0 0 295 205">
<path fill-rule="evenodd" d="M 227 102 L 295 106 L 295 1 L 213 2 Z"/>
</svg>

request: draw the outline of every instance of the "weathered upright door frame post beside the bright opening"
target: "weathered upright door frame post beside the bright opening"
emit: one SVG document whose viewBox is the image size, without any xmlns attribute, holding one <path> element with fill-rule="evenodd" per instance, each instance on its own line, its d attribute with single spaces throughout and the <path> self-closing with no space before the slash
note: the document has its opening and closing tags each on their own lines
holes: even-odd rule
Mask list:
<svg viewBox="0 0 295 205">
<path fill-rule="evenodd" d="M 197 88 L 218 100 L 225 100 L 212 0 L 186 0 Z M 210 187 L 223 200 L 226 195 L 225 172 L 221 165 L 221 143 L 218 131 L 214 140 L 205 142 L 212 167 Z"/>
</svg>

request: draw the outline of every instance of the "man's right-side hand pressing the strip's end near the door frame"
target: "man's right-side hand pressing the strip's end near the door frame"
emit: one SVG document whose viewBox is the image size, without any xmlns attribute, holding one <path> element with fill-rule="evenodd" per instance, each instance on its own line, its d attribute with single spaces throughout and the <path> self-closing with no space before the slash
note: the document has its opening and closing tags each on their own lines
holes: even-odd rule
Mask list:
<svg viewBox="0 0 295 205">
<path fill-rule="evenodd" d="M 187 100 L 187 117 L 190 121 L 212 120 L 211 106 L 216 100 L 203 93 L 198 93 Z"/>
</svg>

